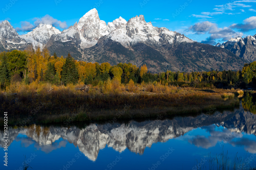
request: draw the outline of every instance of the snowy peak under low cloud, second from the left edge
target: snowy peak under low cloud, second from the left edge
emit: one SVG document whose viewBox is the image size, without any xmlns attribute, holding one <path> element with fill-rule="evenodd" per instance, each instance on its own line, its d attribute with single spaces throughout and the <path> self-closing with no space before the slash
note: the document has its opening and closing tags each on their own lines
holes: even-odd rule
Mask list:
<svg viewBox="0 0 256 170">
<path fill-rule="evenodd" d="M 33 31 L 28 32 L 25 35 L 20 35 L 20 37 L 24 38 L 27 43 L 33 44 L 34 47 L 37 47 L 38 45 L 42 47 L 49 41 L 53 34 L 57 35 L 60 33 L 61 31 L 52 25 L 39 24 Z"/>
</svg>

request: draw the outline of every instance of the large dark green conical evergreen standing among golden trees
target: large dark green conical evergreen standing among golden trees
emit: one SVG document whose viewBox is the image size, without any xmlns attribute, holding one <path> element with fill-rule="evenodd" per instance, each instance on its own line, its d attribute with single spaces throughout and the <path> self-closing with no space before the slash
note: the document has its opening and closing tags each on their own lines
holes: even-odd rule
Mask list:
<svg viewBox="0 0 256 170">
<path fill-rule="evenodd" d="M 68 54 L 61 72 L 61 81 L 64 83 L 64 85 L 67 85 L 68 83 L 76 84 L 78 82 L 78 76 L 79 74 L 75 61 L 71 55 Z"/>
</svg>

